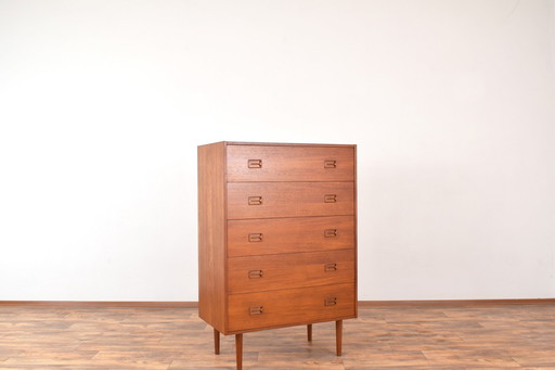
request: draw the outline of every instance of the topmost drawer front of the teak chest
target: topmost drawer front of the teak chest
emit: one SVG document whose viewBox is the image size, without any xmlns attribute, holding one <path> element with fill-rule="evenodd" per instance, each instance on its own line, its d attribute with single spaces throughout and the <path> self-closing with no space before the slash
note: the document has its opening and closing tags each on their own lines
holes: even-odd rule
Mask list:
<svg viewBox="0 0 555 370">
<path fill-rule="evenodd" d="M 353 181 L 354 146 L 228 145 L 228 181 Z"/>
</svg>

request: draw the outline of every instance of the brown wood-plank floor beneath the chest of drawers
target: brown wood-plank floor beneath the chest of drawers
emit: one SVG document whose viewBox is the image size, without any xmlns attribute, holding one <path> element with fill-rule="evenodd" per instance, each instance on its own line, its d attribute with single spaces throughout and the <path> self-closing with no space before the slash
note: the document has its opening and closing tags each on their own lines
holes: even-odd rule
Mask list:
<svg viewBox="0 0 555 370">
<path fill-rule="evenodd" d="M 555 369 L 555 305 L 360 307 L 334 322 L 244 335 L 244 369 Z M 234 369 L 195 308 L 0 306 L 0 369 Z"/>
</svg>

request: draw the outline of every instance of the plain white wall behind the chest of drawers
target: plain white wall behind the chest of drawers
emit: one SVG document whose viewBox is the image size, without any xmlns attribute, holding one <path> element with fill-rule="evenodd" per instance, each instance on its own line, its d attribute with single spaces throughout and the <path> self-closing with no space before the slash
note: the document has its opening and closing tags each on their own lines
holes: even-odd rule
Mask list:
<svg viewBox="0 0 555 370">
<path fill-rule="evenodd" d="M 196 145 L 359 144 L 361 299 L 555 297 L 554 1 L 0 1 L 0 299 L 195 301 Z"/>
</svg>

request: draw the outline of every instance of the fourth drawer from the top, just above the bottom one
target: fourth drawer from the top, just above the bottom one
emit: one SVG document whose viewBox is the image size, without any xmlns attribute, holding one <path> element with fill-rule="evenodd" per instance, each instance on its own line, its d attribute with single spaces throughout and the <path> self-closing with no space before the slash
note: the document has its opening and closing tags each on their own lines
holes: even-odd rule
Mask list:
<svg viewBox="0 0 555 370">
<path fill-rule="evenodd" d="M 228 258 L 230 294 L 354 282 L 354 251 Z"/>
</svg>

